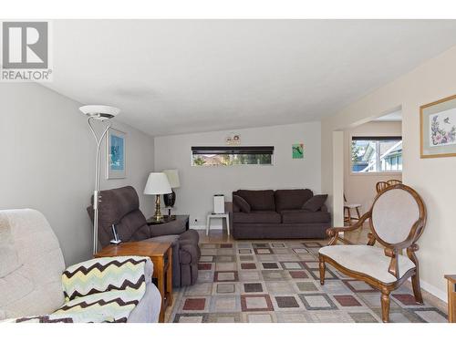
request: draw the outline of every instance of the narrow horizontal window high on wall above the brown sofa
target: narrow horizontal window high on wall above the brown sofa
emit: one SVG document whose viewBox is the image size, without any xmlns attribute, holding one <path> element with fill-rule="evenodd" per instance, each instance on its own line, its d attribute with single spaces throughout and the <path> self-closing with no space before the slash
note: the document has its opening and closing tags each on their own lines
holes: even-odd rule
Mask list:
<svg viewBox="0 0 456 342">
<path fill-rule="evenodd" d="M 274 146 L 193 146 L 192 166 L 273 165 Z"/>
</svg>

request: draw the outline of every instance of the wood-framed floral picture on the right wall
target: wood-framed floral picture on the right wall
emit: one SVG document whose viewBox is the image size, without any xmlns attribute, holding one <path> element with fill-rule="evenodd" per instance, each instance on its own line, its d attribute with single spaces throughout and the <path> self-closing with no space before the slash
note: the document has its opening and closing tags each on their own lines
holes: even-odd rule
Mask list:
<svg viewBox="0 0 456 342">
<path fill-rule="evenodd" d="M 420 107 L 421 158 L 456 156 L 456 95 Z"/>
</svg>

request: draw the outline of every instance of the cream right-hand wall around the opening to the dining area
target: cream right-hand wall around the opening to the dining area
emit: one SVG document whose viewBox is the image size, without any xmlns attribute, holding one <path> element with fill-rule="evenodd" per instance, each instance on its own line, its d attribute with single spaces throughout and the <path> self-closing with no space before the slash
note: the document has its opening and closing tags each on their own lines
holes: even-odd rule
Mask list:
<svg viewBox="0 0 456 342">
<path fill-rule="evenodd" d="M 332 142 L 326 137 L 402 108 L 402 178 L 420 193 L 428 210 L 419 241 L 421 285 L 445 301 L 443 275 L 456 269 L 456 158 L 420 159 L 420 106 L 456 94 L 455 60 L 456 47 L 452 47 L 322 121 L 322 185 L 324 192 L 332 194 L 333 180 L 338 178 L 333 174 Z"/>
</svg>

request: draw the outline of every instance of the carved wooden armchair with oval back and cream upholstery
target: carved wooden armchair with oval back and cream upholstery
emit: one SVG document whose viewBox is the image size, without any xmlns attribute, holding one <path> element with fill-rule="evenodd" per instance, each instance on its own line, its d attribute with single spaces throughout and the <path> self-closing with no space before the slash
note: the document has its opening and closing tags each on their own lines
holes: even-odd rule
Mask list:
<svg viewBox="0 0 456 342">
<path fill-rule="evenodd" d="M 369 219 L 368 245 L 347 243 L 339 233 L 357 230 Z M 327 229 L 329 244 L 319 250 L 320 283 L 325 284 L 326 263 L 381 292 L 381 316 L 389 321 L 389 294 L 409 277 L 415 300 L 422 304 L 416 242 L 426 224 L 426 208 L 420 195 L 409 186 L 397 184 L 378 193 L 372 207 L 350 227 Z M 374 247 L 375 242 L 383 250 Z M 407 255 L 399 254 L 403 249 Z"/>
</svg>

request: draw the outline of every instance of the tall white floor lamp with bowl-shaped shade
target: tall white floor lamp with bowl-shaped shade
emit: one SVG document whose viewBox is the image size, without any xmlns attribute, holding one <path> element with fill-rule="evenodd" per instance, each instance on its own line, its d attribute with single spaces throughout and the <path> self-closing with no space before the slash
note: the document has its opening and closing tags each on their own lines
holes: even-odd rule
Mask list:
<svg viewBox="0 0 456 342">
<path fill-rule="evenodd" d="M 101 142 L 106 136 L 109 128 L 111 127 L 111 123 L 109 119 L 114 118 L 116 115 L 119 114 L 120 109 L 115 107 L 109 106 L 99 106 L 99 105 L 91 105 L 91 106 L 83 106 L 79 108 L 84 114 L 88 116 L 88 127 L 95 138 L 95 143 L 97 145 L 96 151 L 96 160 L 95 160 L 95 190 L 93 192 L 93 254 L 98 252 L 98 202 L 100 200 L 99 196 L 99 148 L 101 146 Z M 106 125 L 105 130 L 98 138 L 97 133 L 93 128 L 93 121 L 105 121 L 108 120 L 108 124 Z"/>
</svg>

